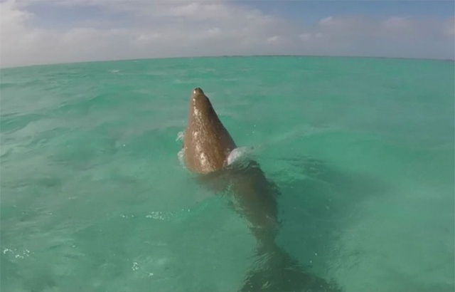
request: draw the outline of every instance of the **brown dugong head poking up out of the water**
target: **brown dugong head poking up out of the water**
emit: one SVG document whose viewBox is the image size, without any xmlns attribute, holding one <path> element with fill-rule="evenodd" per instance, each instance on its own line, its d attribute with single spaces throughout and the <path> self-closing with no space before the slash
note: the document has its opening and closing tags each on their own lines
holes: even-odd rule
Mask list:
<svg viewBox="0 0 455 292">
<path fill-rule="evenodd" d="M 186 167 L 199 174 L 222 170 L 235 147 L 208 97 L 202 89 L 195 88 L 183 138 Z"/>
</svg>

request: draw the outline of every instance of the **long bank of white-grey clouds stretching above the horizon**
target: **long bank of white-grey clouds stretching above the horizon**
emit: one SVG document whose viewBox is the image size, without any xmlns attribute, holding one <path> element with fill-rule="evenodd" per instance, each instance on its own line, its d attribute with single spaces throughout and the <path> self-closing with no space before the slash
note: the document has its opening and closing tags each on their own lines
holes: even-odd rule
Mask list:
<svg viewBox="0 0 455 292">
<path fill-rule="evenodd" d="M 102 11 L 70 28 L 40 26 L 36 1 L 0 3 L 0 66 L 125 58 L 309 54 L 453 58 L 454 19 L 328 16 L 312 27 L 229 1 L 47 0 Z M 129 25 L 120 25 L 122 21 Z M 110 17 L 110 18 L 109 18 Z M 116 24 L 116 26 L 108 26 Z"/>
</svg>

